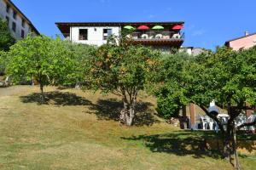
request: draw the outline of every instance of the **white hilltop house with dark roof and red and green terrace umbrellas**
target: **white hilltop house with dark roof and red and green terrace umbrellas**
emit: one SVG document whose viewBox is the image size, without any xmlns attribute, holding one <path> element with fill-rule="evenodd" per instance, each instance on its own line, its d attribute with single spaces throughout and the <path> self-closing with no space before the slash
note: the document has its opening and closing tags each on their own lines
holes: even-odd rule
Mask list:
<svg viewBox="0 0 256 170">
<path fill-rule="evenodd" d="M 135 44 L 154 48 L 180 48 L 184 41 L 184 22 L 57 22 L 63 36 L 71 42 L 101 46 L 108 37 L 119 37 L 124 30 L 132 30 Z"/>
</svg>

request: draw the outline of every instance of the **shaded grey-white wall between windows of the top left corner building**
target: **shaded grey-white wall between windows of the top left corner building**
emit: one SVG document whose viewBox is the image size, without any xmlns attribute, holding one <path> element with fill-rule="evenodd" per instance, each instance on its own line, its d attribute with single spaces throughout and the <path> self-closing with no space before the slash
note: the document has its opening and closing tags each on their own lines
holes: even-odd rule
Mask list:
<svg viewBox="0 0 256 170">
<path fill-rule="evenodd" d="M 22 18 L 20 16 L 20 14 L 16 15 L 16 19 L 13 18 L 13 13 L 14 10 L 13 8 L 10 7 L 9 9 L 9 13 L 6 12 L 6 3 L 4 3 L 3 0 L 0 0 L 0 17 L 1 19 L 5 20 L 6 16 L 9 17 L 9 29 L 12 33 L 12 35 L 17 39 L 20 40 L 21 38 L 21 30 L 23 30 L 25 32 L 25 37 L 27 36 L 27 34 L 31 31 L 30 26 L 28 26 L 28 24 L 25 22 L 25 26 L 22 26 Z M 14 32 L 12 30 L 12 23 L 15 22 L 16 23 L 16 31 Z"/>
</svg>

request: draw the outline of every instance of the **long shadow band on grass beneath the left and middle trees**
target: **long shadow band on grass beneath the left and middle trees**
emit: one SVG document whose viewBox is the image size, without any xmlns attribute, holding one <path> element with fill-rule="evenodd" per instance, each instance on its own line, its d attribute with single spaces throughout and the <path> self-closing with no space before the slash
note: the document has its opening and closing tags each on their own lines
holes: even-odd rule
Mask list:
<svg viewBox="0 0 256 170">
<path fill-rule="evenodd" d="M 89 105 L 90 113 L 96 114 L 98 119 L 117 122 L 119 121 L 120 111 L 123 108 L 123 103 L 117 99 L 99 99 L 96 104 L 93 104 L 90 100 L 76 94 L 59 91 L 44 93 L 44 102 L 42 102 L 39 93 L 21 96 L 20 99 L 23 103 L 37 103 L 38 105 Z M 151 103 L 139 102 L 137 104 L 134 126 L 151 126 L 159 122 L 154 118 L 154 111 L 150 110 L 150 106 L 152 106 Z"/>
</svg>

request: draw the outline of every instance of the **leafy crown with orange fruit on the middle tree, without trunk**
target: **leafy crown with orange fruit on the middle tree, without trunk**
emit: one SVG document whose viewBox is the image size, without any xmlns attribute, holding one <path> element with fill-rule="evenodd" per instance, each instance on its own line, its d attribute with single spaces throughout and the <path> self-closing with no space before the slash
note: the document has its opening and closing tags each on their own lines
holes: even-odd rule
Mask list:
<svg viewBox="0 0 256 170">
<path fill-rule="evenodd" d="M 141 46 L 103 45 L 92 60 L 90 81 L 104 92 L 143 90 L 158 53 Z"/>
</svg>

